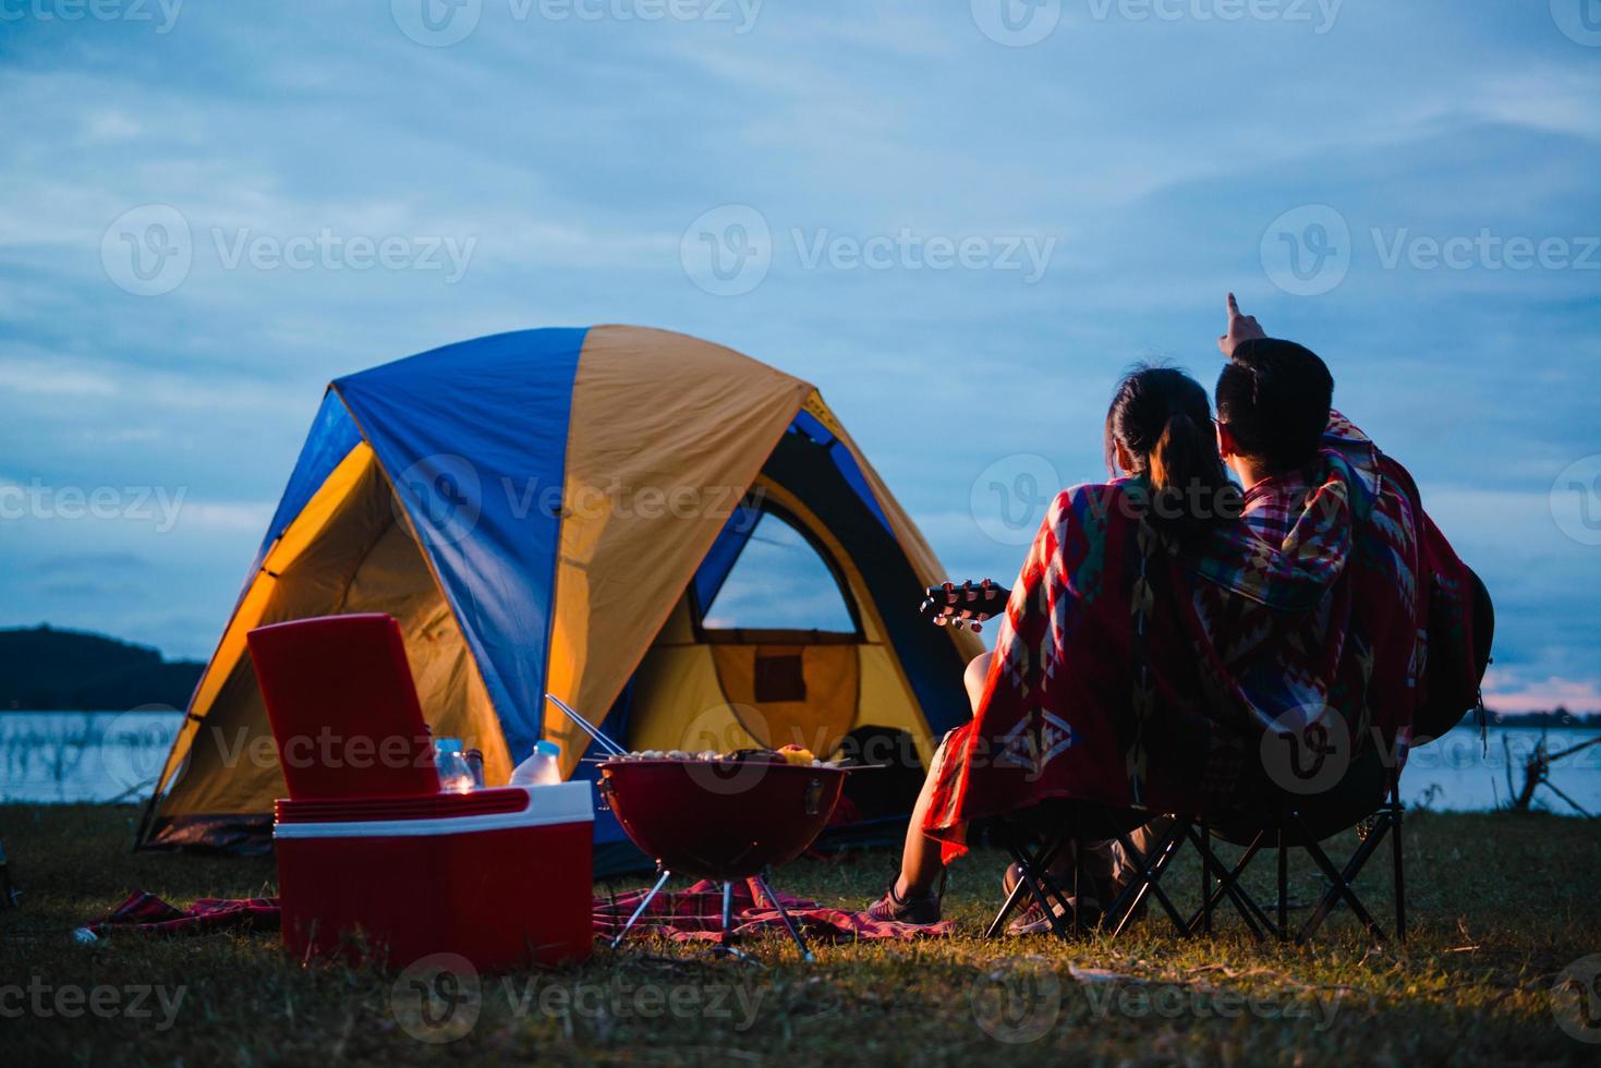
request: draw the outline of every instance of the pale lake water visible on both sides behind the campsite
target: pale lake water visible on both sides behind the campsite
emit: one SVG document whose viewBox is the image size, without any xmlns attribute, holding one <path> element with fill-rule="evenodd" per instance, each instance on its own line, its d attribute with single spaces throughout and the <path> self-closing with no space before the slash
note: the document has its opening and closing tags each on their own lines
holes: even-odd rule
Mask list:
<svg viewBox="0 0 1601 1068">
<path fill-rule="evenodd" d="M 181 722 L 181 713 L 168 711 L 0 713 L 0 802 L 142 801 Z M 1412 753 L 1401 793 L 1409 805 L 1494 809 L 1523 786 L 1523 762 L 1540 735 L 1537 727 L 1491 727 L 1486 748 L 1476 727 L 1459 727 Z M 1555 753 L 1596 732 L 1561 729 L 1545 737 Z M 1601 745 L 1558 761 L 1550 781 L 1601 813 Z M 1545 786 L 1535 793 L 1535 807 L 1574 813 Z"/>
</svg>

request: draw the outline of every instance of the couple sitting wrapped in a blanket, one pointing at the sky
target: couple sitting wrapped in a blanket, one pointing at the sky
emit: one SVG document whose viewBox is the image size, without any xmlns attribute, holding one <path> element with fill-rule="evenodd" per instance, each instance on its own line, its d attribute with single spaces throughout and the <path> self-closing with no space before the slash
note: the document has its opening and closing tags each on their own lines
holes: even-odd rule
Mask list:
<svg viewBox="0 0 1601 1068">
<path fill-rule="evenodd" d="M 1426 656 L 1431 616 L 1454 620 L 1441 645 L 1471 632 L 1471 573 L 1410 476 L 1332 412 L 1324 362 L 1233 295 L 1218 346 L 1215 420 L 1183 371 L 1117 384 L 1121 477 L 1061 492 L 999 591 L 996 650 L 967 671 L 973 719 L 935 754 L 874 917 L 937 922 L 972 820 L 1052 799 L 1246 812 L 1271 794 L 1262 740 L 1286 725 L 1377 746 L 1398 772 L 1430 692 L 1457 717 L 1475 703 L 1460 656 Z M 1129 871 L 1113 845 L 1090 853 L 1105 897 Z"/>
</svg>

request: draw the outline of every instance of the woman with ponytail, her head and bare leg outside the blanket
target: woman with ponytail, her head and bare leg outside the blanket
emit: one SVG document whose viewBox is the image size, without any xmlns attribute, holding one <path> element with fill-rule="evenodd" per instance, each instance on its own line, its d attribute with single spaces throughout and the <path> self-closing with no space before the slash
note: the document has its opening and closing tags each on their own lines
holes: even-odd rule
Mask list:
<svg viewBox="0 0 1601 1068">
<path fill-rule="evenodd" d="M 1106 466 L 1114 476 L 1105 488 L 1119 490 L 1106 500 L 1138 512 L 1138 522 L 1126 527 L 1130 535 L 1145 530 L 1166 544 L 1180 546 L 1202 541 L 1215 525 L 1238 519 L 1239 493 L 1217 452 L 1206 389 L 1186 373 L 1138 367 L 1126 375 L 1106 412 L 1105 448 Z M 1090 493 L 1097 488 L 1101 487 L 1087 487 Z M 1037 548 L 1036 543 L 1036 552 Z M 1050 565 L 1031 560 L 1037 564 Z M 967 695 L 975 713 L 991 685 L 991 661 L 993 653 L 983 653 L 967 666 Z M 924 834 L 924 825 L 935 804 L 937 785 L 948 777 L 948 754 L 970 727 L 953 730 L 935 753 L 906 829 L 900 874 L 868 908 L 874 919 L 938 922 L 945 861 L 940 842 Z"/>
</svg>

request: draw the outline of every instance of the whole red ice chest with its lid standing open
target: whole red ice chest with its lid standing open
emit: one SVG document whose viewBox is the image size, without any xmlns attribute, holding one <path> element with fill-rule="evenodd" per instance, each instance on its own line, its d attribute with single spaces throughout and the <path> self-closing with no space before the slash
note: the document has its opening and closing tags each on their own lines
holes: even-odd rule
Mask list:
<svg viewBox="0 0 1601 1068">
<path fill-rule="evenodd" d="M 248 642 L 290 791 L 272 837 L 291 953 L 363 945 L 402 969 L 456 953 L 485 970 L 589 956 L 589 783 L 439 793 L 387 615 L 277 623 Z"/>
</svg>

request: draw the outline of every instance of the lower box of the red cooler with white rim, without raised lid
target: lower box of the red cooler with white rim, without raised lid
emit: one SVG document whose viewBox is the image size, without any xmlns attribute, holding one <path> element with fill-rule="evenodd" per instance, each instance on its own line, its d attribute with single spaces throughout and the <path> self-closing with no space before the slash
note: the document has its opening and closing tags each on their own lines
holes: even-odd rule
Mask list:
<svg viewBox="0 0 1601 1068">
<path fill-rule="evenodd" d="M 279 801 L 283 945 L 352 945 L 392 967 L 459 953 L 484 970 L 589 956 L 589 783 Z"/>
</svg>

